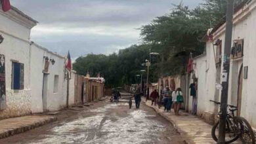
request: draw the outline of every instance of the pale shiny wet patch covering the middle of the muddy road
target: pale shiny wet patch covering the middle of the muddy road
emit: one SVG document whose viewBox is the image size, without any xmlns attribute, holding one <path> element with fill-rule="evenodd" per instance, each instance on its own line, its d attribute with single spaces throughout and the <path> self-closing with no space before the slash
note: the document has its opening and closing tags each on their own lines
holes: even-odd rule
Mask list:
<svg viewBox="0 0 256 144">
<path fill-rule="evenodd" d="M 91 110 L 98 113 L 67 122 L 51 129 L 51 134 L 43 135 L 36 143 L 158 143 L 159 132 L 166 129 L 157 120 L 148 117 L 141 109 L 130 111 L 126 117 L 108 115 L 106 111 L 116 109 L 128 103 L 111 103 Z"/>
</svg>

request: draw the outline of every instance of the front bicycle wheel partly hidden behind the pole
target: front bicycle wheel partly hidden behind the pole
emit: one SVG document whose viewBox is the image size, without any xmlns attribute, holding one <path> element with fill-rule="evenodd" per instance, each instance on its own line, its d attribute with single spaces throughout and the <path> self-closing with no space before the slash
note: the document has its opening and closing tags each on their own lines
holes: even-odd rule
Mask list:
<svg viewBox="0 0 256 144">
<path fill-rule="evenodd" d="M 218 142 L 218 136 L 219 136 L 219 120 L 218 122 L 211 128 L 211 137 Z M 226 136 L 225 136 L 225 143 L 232 143 L 236 141 L 239 138 L 239 135 L 236 135 L 234 133 L 234 130 L 232 130 L 228 120 L 226 120 Z"/>
</svg>

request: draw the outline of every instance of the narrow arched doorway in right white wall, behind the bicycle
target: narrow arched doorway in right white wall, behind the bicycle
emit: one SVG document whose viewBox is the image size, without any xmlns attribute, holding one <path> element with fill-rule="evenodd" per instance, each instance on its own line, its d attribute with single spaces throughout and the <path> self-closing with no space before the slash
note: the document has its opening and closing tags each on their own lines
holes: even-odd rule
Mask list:
<svg viewBox="0 0 256 144">
<path fill-rule="evenodd" d="M 239 75 L 238 75 L 238 103 L 237 103 L 237 106 L 238 106 L 237 115 L 238 116 L 240 116 L 240 114 L 241 114 L 243 76 L 244 76 L 244 70 L 243 70 L 243 65 L 241 65 Z"/>
</svg>

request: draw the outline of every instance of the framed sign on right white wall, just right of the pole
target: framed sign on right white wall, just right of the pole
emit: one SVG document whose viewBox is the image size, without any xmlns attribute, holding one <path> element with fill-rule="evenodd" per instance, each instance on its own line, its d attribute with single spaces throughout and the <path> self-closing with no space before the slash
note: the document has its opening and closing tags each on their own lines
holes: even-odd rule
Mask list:
<svg viewBox="0 0 256 144">
<path fill-rule="evenodd" d="M 234 45 L 231 49 L 231 58 L 238 59 L 244 55 L 244 39 L 238 39 L 234 41 Z"/>
</svg>

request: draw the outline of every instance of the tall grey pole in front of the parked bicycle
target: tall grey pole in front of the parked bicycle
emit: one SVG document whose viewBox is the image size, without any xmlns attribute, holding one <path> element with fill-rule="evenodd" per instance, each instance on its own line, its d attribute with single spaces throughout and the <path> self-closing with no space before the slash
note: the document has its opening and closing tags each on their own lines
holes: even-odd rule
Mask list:
<svg viewBox="0 0 256 144">
<path fill-rule="evenodd" d="M 226 1 L 226 34 L 223 56 L 223 90 L 221 92 L 221 115 L 219 123 L 219 144 L 225 143 L 225 128 L 226 128 L 226 109 L 228 101 L 228 79 L 230 69 L 230 49 L 232 46 L 232 28 L 233 28 L 234 0 Z"/>
</svg>

